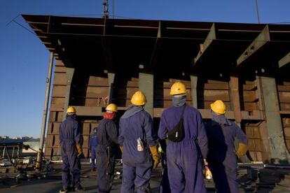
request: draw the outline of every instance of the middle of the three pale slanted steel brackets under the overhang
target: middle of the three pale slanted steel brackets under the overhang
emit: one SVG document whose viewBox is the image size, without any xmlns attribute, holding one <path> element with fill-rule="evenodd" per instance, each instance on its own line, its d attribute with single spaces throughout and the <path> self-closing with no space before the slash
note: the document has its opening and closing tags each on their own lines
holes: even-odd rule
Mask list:
<svg viewBox="0 0 290 193">
<path fill-rule="evenodd" d="M 246 50 L 237 59 L 237 66 L 244 66 L 246 62 L 254 55 L 254 53 L 262 48 L 266 43 L 270 42 L 270 31 L 268 25 L 261 31 L 256 39 L 248 46 Z"/>
</svg>

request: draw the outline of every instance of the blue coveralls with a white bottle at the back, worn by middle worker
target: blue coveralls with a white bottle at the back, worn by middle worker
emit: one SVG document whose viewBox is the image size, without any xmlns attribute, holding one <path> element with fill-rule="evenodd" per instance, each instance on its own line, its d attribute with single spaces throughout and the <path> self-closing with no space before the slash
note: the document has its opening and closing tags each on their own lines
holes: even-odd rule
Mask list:
<svg viewBox="0 0 290 193">
<path fill-rule="evenodd" d="M 152 171 L 152 158 L 149 147 L 157 145 L 151 115 L 145 110 L 126 118 L 120 118 L 119 143 L 123 146 L 123 180 L 121 191 L 133 193 L 149 192 Z M 144 151 L 137 150 L 137 138 L 141 138 Z"/>
</svg>

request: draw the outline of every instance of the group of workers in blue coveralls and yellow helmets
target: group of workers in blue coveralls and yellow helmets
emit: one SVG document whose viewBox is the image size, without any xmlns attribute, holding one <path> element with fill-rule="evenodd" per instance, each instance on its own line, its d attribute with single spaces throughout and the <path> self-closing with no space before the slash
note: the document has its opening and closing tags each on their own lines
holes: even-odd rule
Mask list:
<svg viewBox="0 0 290 193">
<path fill-rule="evenodd" d="M 170 89 L 172 106 L 160 117 L 158 134 L 153 120 L 144 110 L 146 97 L 137 91 L 131 105 L 116 124 L 117 106 L 106 107 L 103 120 L 94 129 L 90 141 L 92 158 L 97 155 L 97 192 L 110 192 L 114 174 L 113 146 L 120 145 L 123 176 L 120 192 L 150 192 L 151 171 L 160 163 L 159 141 L 166 155 L 160 192 L 206 192 L 202 165 L 212 171 L 216 192 L 239 192 L 237 157 L 247 152 L 247 136 L 225 116 L 226 106 L 217 100 L 211 104 L 212 120 L 204 124 L 200 112 L 186 104 L 186 87 L 174 83 Z M 235 137 L 240 141 L 235 150 Z M 80 127 L 74 107 L 67 109 L 67 120 L 60 124 L 62 145 L 62 190 L 83 190 L 80 184 L 82 155 Z M 95 151 L 95 152 L 94 152 Z M 94 156 L 94 157 L 93 157 Z M 92 159 L 93 160 L 93 159 Z M 92 170 L 95 165 L 92 161 Z"/>
</svg>

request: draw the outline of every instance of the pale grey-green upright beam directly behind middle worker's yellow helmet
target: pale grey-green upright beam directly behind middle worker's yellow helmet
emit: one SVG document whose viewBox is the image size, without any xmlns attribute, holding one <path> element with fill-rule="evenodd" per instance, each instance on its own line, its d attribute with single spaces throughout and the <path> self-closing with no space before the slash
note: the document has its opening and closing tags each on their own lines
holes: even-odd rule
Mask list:
<svg viewBox="0 0 290 193">
<path fill-rule="evenodd" d="M 139 73 L 139 90 L 146 96 L 145 110 L 153 117 L 153 74 Z"/>
</svg>

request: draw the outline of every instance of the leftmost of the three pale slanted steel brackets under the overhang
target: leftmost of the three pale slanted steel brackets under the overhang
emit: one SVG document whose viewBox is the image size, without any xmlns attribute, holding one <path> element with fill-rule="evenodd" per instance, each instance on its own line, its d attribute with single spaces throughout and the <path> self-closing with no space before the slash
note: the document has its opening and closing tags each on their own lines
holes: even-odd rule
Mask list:
<svg viewBox="0 0 290 193">
<path fill-rule="evenodd" d="M 207 38 L 205 38 L 205 42 L 200 46 L 200 52 L 198 52 L 198 55 L 194 59 L 193 66 L 198 66 L 202 60 L 202 55 L 205 54 L 207 51 L 207 48 L 212 44 L 212 42 L 216 40 L 216 27 L 215 24 L 212 24 L 211 29 L 209 30 L 209 34 L 207 34 Z"/>
</svg>

